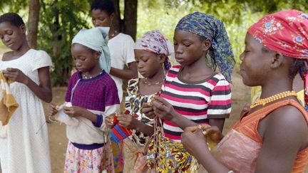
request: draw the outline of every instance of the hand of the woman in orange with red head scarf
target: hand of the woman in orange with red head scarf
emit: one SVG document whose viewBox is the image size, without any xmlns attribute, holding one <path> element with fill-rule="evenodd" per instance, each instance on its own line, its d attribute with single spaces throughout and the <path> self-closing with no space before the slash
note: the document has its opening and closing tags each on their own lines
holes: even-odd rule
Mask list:
<svg viewBox="0 0 308 173">
<path fill-rule="evenodd" d="M 186 127 L 184 132 L 181 134 L 181 142 L 185 150 L 192 155 L 195 155 L 195 147 L 204 146 L 207 148 L 205 136 L 203 135 L 202 130 L 197 127 Z"/>
</svg>

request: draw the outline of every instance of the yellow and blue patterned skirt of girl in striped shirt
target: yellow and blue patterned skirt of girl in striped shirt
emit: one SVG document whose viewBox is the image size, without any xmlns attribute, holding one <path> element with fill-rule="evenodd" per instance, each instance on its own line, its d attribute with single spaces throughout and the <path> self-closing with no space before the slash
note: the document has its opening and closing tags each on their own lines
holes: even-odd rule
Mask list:
<svg viewBox="0 0 308 173">
<path fill-rule="evenodd" d="M 161 127 L 155 126 L 147 150 L 147 166 L 155 172 L 197 172 L 197 159 L 190 155 L 182 143 L 163 136 Z"/>
</svg>

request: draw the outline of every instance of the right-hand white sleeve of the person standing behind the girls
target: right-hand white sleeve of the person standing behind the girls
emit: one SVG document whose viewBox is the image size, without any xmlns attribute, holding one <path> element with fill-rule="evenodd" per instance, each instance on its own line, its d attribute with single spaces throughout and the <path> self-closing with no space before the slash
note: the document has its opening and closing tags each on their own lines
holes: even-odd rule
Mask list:
<svg viewBox="0 0 308 173">
<path fill-rule="evenodd" d="M 135 43 L 133 41 L 133 38 L 127 35 L 124 41 L 124 50 L 123 50 L 123 56 L 125 58 L 125 64 L 128 65 L 128 63 L 135 62 L 135 53 L 134 53 L 134 47 Z"/>
</svg>

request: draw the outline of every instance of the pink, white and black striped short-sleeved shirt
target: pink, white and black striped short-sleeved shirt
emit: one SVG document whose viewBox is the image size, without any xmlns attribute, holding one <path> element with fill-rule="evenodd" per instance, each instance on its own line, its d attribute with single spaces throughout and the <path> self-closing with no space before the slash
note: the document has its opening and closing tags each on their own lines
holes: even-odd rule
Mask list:
<svg viewBox="0 0 308 173">
<path fill-rule="evenodd" d="M 230 84 L 217 73 L 202 81 L 189 82 L 178 78 L 182 69 L 175 65 L 168 71 L 160 97 L 165 98 L 176 112 L 198 124 L 210 118 L 226 118 L 231 112 Z M 183 130 L 168 120 L 163 121 L 165 137 L 180 142 Z"/>
</svg>

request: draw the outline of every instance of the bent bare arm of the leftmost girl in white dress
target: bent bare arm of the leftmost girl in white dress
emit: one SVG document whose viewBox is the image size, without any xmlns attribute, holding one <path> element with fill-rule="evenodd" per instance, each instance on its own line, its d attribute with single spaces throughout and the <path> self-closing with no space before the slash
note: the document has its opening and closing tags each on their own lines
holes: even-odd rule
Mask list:
<svg viewBox="0 0 308 173">
<path fill-rule="evenodd" d="M 4 76 L 10 80 L 24 83 L 28 88 L 30 88 L 30 90 L 34 92 L 36 96 L 38 96 L 38 98 L 45 101 L 46 103 L 50 103 L 52 100 L 52 93 L 49 67 L 39 68 L 38 71 L 40 81 L 39 85 L 34 83 L 31 78 L 26 76 L 21 70 L 17 68 L 7 68 L 4 71 Z"/>
</svg>

